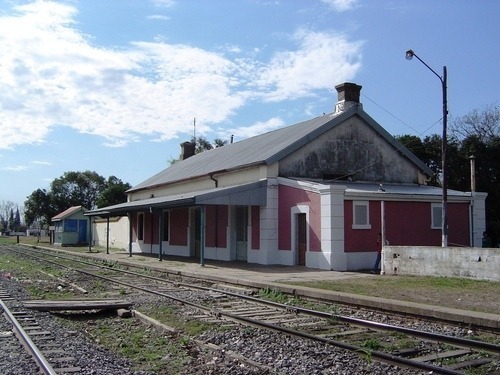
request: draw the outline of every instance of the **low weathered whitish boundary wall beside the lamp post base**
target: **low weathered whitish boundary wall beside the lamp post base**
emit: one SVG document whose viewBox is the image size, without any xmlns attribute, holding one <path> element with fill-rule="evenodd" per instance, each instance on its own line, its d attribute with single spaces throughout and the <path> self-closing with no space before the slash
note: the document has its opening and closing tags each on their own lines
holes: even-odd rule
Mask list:
<svg viewBox="0 0 500 375">
<path fill-rule="evenodd" d="M 453 276 L 500 281 L 500 249 L 384 246 L 386 275 Z"/>
</svg>

